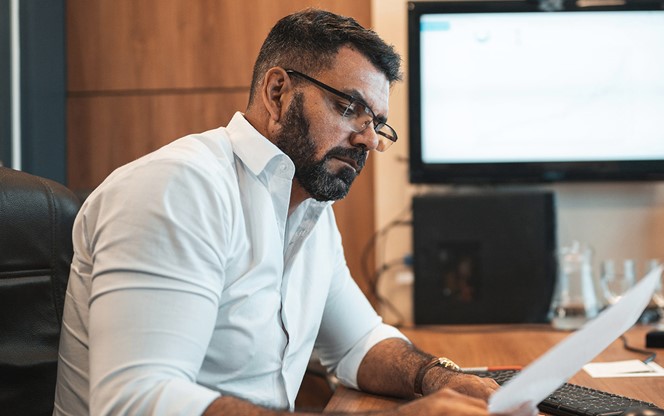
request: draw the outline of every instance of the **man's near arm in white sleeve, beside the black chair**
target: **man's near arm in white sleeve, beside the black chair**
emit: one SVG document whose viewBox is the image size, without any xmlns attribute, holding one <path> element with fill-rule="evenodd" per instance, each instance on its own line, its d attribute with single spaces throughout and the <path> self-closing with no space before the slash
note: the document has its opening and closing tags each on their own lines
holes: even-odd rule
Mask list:
<svg viewBox="0 0 664 416">
<path fill-rule="evenodd" d="M 120 175 L 83 214 L 89 289 L 68 299 L 89 305 L 80 394 L 89 392 L 90 414 L 202 413 L 218 396 L 196 379 L 232 252 L 233 218 L 222 215 L 232 208 L 213 186 L 224 179 L 175 158 Z"/>
</svg>

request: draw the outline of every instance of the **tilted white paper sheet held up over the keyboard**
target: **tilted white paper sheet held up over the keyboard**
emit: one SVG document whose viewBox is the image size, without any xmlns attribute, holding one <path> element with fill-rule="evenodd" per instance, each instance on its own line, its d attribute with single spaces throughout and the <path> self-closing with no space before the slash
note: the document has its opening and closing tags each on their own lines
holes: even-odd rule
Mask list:
<svg viewBox="0 0 664 416">
<path fill-rule="evenodd" d="M 537 404 L 548 397 L 634 325 L 650 302 L 661 273 L 662 266 L 652 270 L 615 305 L 605 309 L 505 383 L 489 399 L 489 410 L 505 413 L 522 403 Z"/>
</svg>

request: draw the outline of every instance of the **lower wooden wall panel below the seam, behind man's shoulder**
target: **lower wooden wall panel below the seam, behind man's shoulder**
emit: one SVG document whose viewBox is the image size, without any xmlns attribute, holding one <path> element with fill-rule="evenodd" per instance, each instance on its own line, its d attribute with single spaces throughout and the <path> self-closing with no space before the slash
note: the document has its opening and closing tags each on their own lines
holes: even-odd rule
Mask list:
<svg viewBox="0 0 664 416">
<path fill-rule="evenodd" d="M 115 168 L 191 133 L 226 125 L 247 92 L 70 97 L 69 187 L 95 188 Z"/>
</svg>

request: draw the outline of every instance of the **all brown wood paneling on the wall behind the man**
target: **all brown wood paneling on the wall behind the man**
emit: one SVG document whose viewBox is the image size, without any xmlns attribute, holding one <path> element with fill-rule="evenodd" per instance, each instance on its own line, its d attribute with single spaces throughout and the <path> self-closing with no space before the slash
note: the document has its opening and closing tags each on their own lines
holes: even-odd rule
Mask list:
<svg viewBox="0 0 664 416">
<path fill-rule="evenodd" d="M 260 45 L 281 17 L 320 7 L 370 26 L 370 6 L 370 0 L 68 0 L 68 185 L 90 190 L 122 164 L 243 111 Z M 374 229 L 373 195 L 368 164 L 335 204 L 356 279 Z"/>
</svg>

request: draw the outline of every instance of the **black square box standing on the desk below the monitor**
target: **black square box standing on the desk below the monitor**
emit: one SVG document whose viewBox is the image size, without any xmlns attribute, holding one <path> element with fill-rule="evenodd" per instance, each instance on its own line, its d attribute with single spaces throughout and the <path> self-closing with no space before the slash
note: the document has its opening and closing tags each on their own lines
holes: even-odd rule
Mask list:
<svg viewBox="0 0 664 416">
<path fill-rule="evenodd" d="M 555 230 L 551 192 L 415 197 L 415 323 L 548 322 Z"/>
</svg>

